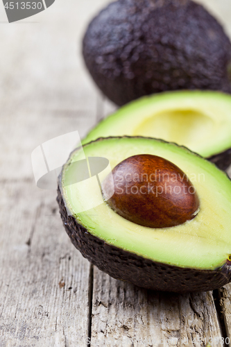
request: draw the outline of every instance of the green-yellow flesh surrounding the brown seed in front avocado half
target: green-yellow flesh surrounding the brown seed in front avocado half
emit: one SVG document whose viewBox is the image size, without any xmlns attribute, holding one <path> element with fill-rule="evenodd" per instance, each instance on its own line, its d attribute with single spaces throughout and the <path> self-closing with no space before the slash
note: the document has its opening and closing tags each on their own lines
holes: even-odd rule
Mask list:
<svg viewBox="0 0 231 347">
<path fill-rule="evenodd" d="M 114 212 L 103 201 L 96 176 L 68 185 L 71 163 L 83 160 L 76 149 L 62 169 L 62 197 L 78 223 L 107 244 L 164 264 L 193 269 L 216 269 L 231 254 L 231 181 L 211 162 L 176 144 L 145 137 L 111 137 L 83 146 L 86 158 L 103 157 L 113 169 L 132 155 L 158 155 L 176 164 L 196 188 L 200 210 L 180 226 L 147 228 Z M 108 170 L 99 174 L 102 180 Z M 94 208 L 86 206 L 100 203 Z M 82 211 L 82 212 L 81 212 Z"/>
</svg>

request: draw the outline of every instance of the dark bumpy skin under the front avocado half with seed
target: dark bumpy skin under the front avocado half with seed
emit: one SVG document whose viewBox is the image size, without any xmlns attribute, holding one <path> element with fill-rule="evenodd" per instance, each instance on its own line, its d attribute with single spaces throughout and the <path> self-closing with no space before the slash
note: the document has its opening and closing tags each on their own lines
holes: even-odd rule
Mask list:
<svg viewBox="0 0 231 347">
<path fill-rule="evenodd" d="M 63 225 L 72 244 L 89 262 L 117 280 L 146 289 L 177 293 L 210 291 L 227 285 L 231 280 L 231 262 L 228 260 L 213 271 L 187 269 L 153 262 L 106 244 L 90 234 L 74 217 L 68 216 L 60 188 L 57 201 Z"/>
</svg>

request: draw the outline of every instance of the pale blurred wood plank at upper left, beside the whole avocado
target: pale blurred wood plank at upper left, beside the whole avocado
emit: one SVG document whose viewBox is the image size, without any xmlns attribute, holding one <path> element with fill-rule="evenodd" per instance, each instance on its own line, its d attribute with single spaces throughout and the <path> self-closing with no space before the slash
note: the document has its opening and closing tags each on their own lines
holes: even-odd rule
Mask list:
<svg viewBox="0 0 231 347">
<path fill-rule="evenodd" d="M 55 1 L 38 23 L 0 24 L 1 178 L 31 177 L 36 146 L 74 130 L 83 137 L 96 123 L 99 93 L 81 45 L 104 3 Z"/>
</svg>

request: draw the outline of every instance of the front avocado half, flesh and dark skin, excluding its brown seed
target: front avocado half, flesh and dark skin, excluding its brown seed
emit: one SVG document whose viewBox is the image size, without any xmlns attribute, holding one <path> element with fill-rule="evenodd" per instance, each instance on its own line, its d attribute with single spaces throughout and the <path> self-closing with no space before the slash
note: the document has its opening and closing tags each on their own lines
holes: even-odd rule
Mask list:
<svg viewBox="0 0 231 347">
<path fill-rule="evenodd" d="M 110 137 L 83 146 L 87 158 L 107 158 L 113 169 L 132 155 L 158 155 L 191 180 L 200 199 L 194 219 L 171 228 L 132 223 L 103 201 L 100 181 L 108 170 L 74 183 L 76 149 L 62 168 L 58 204 L 71 242 L 99 269 L 139 287 L 209 291 L 231 280 L 231 181 L 216 165 L 177 144 L 146 137 Z M 69 184 L 72 180 L 72 184 Z M 94 183 L 94 184 L 93 184 Z M 85 210 L 86 204 L 101 203 Z"/>
</svg>

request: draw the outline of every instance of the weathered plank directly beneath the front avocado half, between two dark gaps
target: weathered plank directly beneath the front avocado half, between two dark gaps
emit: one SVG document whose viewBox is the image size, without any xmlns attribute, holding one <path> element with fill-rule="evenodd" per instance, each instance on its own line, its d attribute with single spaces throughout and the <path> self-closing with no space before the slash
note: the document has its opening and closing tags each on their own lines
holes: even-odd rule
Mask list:
<svg viewBox="0 0 231 347">
<path fill-rule="evenodd" d="M 96 268 L 93 288 L 92 347 L 223 346 L 211 292 L 147 291 Z"/>
</svg>

